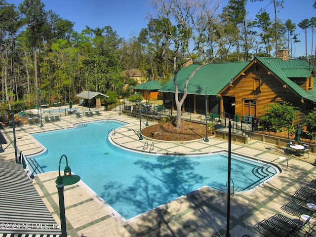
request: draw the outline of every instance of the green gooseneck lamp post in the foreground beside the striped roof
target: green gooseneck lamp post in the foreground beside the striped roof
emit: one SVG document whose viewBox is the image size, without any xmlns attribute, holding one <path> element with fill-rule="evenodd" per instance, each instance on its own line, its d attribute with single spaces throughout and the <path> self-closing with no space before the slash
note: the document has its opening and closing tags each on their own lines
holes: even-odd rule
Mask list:
<svg viewBox="0 0 316 237">
<path fill-rule="evenodd" d="M 64 169 L 64 175 L 60 175 L 60 162 L 62 158 L 66 158 L 66 167 Z M 61 224 L 61 237 L 67 237 L 67 229 L 66 229 L 66 214 L 65 214 L 65 200 L 64 200 L 64 186 L 72 185 L 79 182 L 80 177 L 75 174 L 71 174 L 71 169 L 68 166 L 68 160 L 66 155 L 62 155 L 59 160 L 58 166 L 58 177 L 55 181 L 56 188 L 58 190 L 58 199 L 59 199 L 59 211 L 60 211 L 60 224 Z"/>
</svg>

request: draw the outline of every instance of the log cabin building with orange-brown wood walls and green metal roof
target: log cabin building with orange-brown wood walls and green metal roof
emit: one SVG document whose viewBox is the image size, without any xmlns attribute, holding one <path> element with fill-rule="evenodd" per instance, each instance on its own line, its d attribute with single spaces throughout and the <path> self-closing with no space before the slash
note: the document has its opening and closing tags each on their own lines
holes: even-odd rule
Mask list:
<svg viewBox="0 0 316 237">
<path fill-rule="evenodd" d="M 178 73 L 180 97 L 186 79 L 198 66 L 191 64 Z M 208 114 L 259 118 L 266 113 L 265 105 L 289 102 L 300 108 L 297 121 L 301 122 L 316 107 L 314 77 L 315 68 L 306 61 L 289 59 L 288 50 L 279 50 L 276 58 L 206 64 L 190 80 L 182 110 L 205 114 L 207 108 Z M 173 79 L 159 91 L 165 108 L 175 109 Z"/>
</svg>

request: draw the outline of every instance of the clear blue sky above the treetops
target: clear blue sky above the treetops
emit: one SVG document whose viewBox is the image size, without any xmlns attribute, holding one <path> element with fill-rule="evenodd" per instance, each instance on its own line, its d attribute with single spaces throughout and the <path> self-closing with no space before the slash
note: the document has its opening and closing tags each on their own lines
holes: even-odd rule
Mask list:
<svg viewBox="0 0 316 237">
<path fill-rule="evenodd" d="M 127 40 L 131 36 L 137 36 L 141 29 L 147 27 L 146 15 L 152 12 L 148 0 L 41 0 L 46 10 L 53 10 L 60 17 L 75 22 L 74 30 L 81 32 L 85 26 L 92 29 L 96 27 L 111 26 L 119 37 Z M 222 7 L 229 0 L 222 0 Z M 18 5 L 23 0 L 6 0 L 8 3 Z M 274 19 L 274 6 L 269 4 L 271 0 L 248 0 L 246 9 L 247 18 L 254 20 L 259 10 L 266 7 L 270 18 Z M 283 8 L 278 9 L 277 18 L 291 19 L 298 24 L 304 19 L 316 17 L 316 9 L 313 8 L 315 0 L 284 0 Z M 305 35 L 301 28 L 297 27 L 296 34 L 301 42 L 296 44 L 296 56 L 305 55 Z M 314 40 L 316 42 L 316 39 Z M 308 34 L 308 54 L 311 54 L 312 34 Z M 313 43 L 315 45 L 315 43 Z M 315 48 L 315 46 L 314 46 Z M 294 50 L 294 44 L 293 44 Z M 315 49 L 314 49 L 315 50 Z M 314 53 L 315 54 L 315 51 Z M 294 52 L 293 52 L 294 56 Z"/>
</svg>

